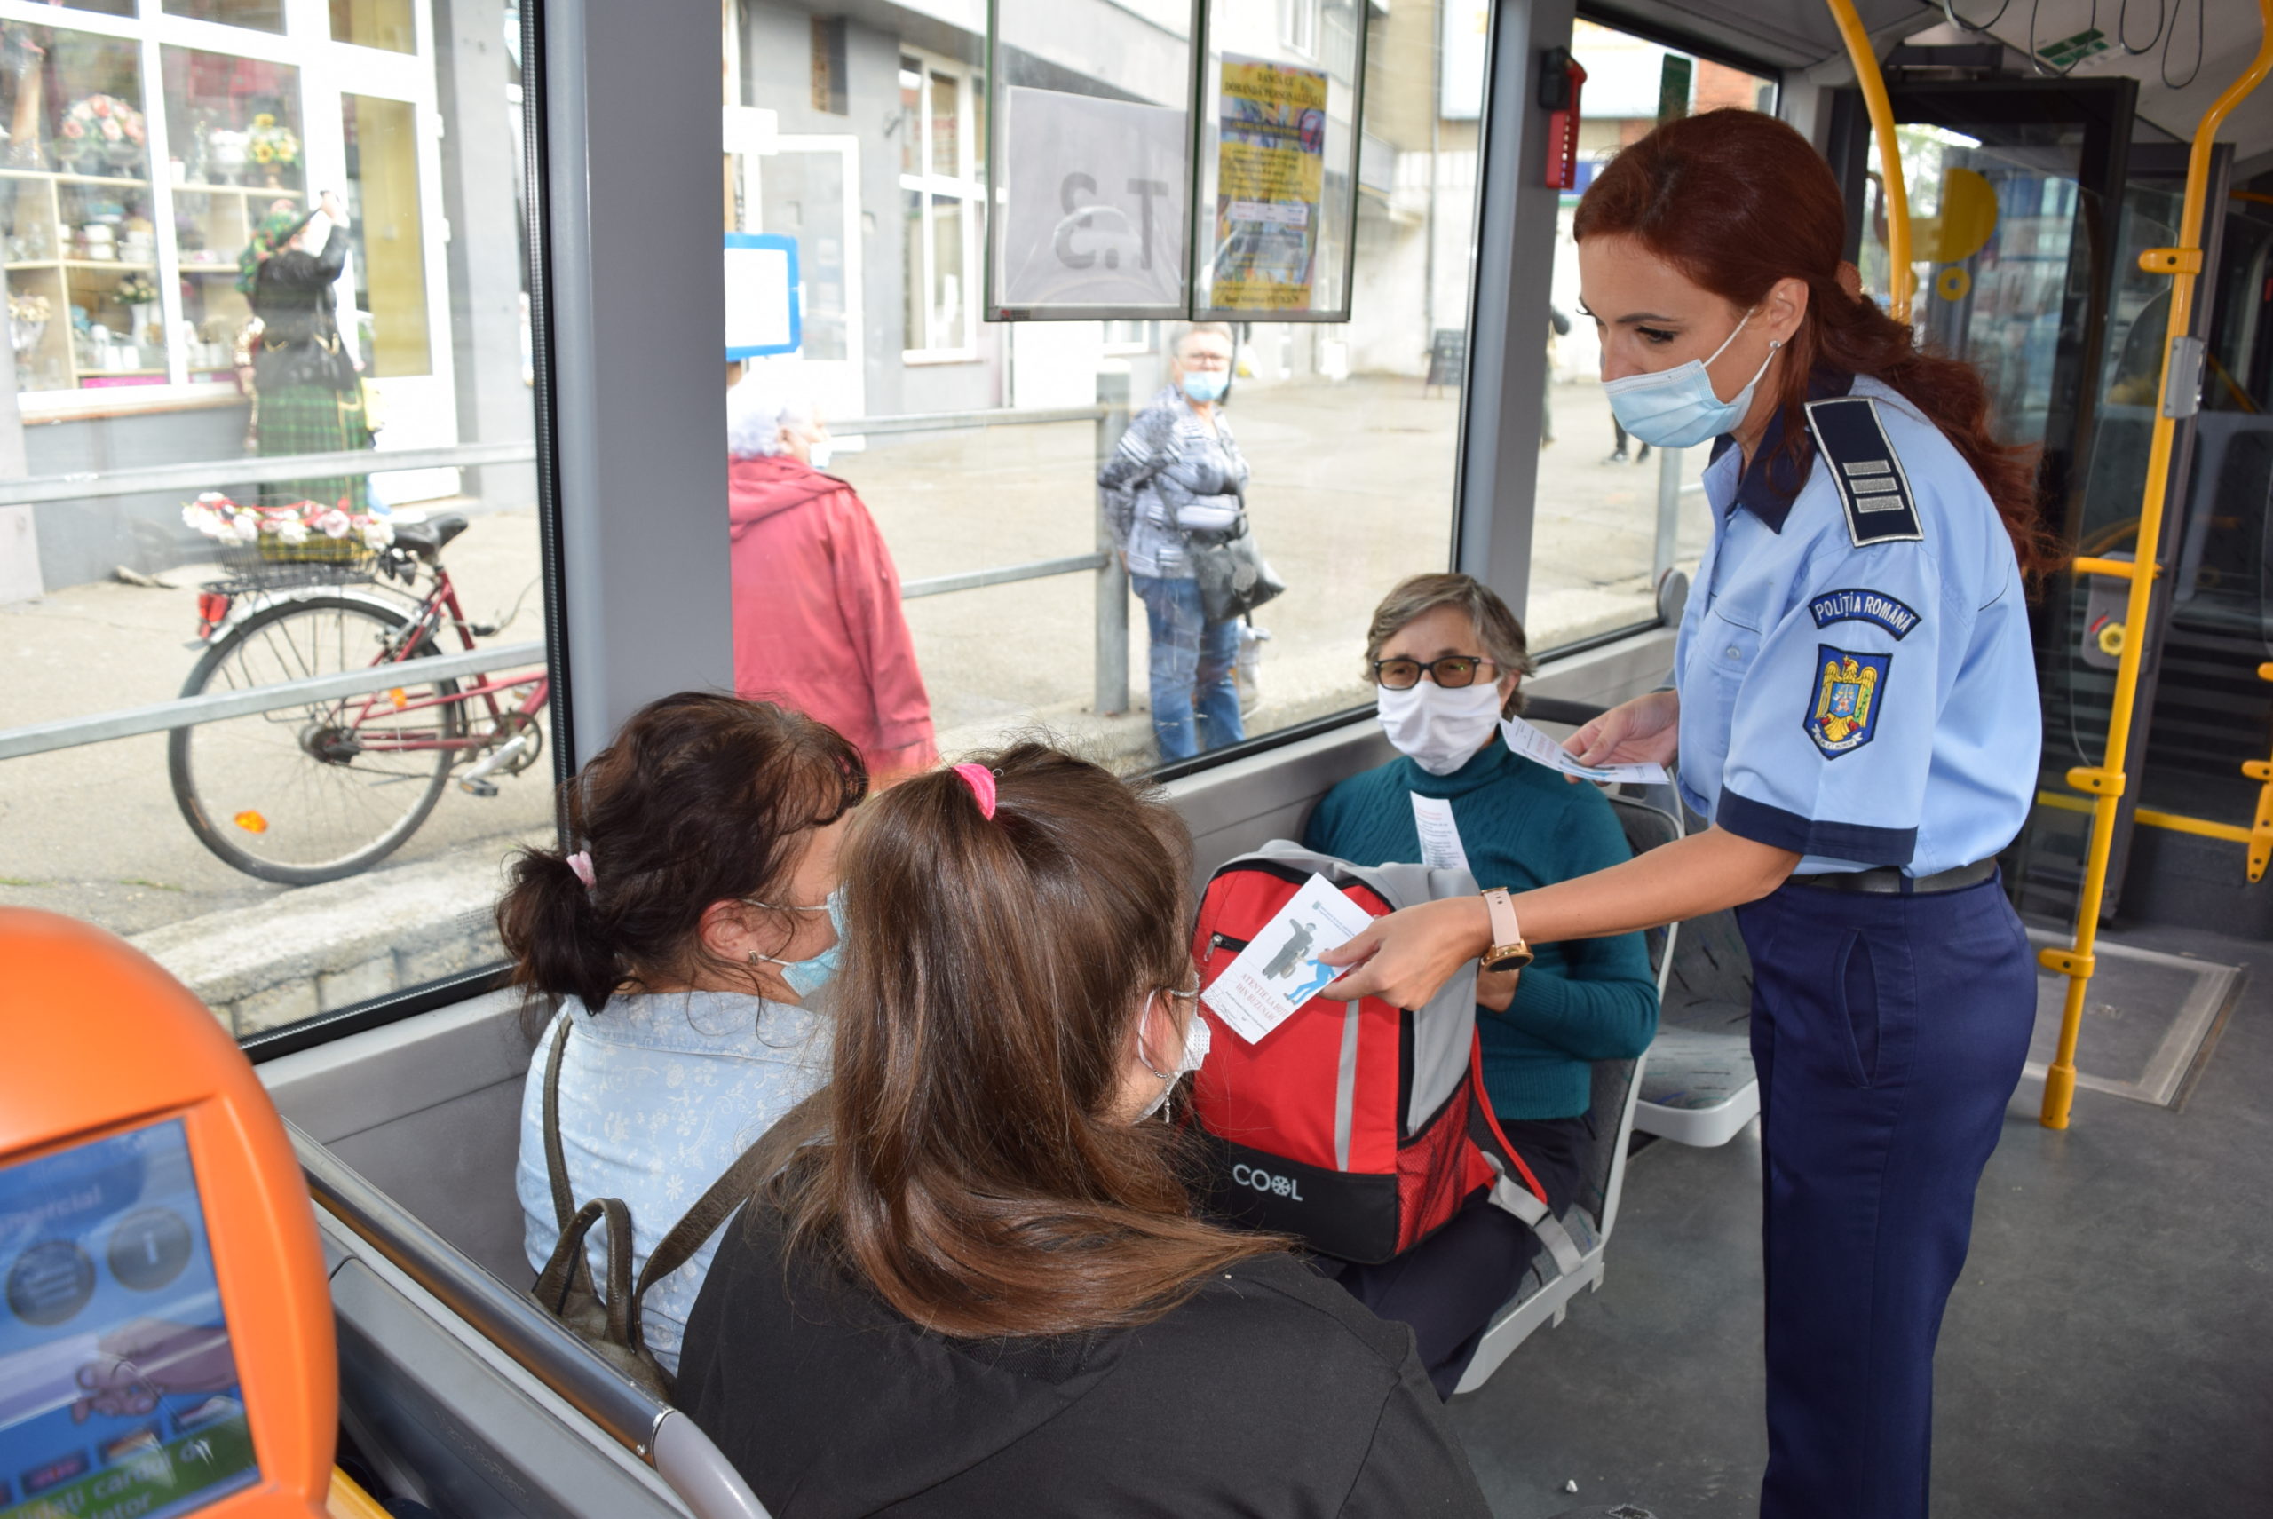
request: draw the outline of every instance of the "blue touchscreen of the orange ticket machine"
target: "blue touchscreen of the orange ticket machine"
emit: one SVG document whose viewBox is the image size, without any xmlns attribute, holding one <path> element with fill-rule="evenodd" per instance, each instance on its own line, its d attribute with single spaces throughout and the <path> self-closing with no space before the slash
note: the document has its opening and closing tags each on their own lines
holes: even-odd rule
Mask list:
<svg viewBox="0 0 2273 1519">
<path fill-rule="evenodd" d="M 168 1519 L 259 1478 L 180 1119 L 0 1167 L 0 1519 Z"/>
</svg>

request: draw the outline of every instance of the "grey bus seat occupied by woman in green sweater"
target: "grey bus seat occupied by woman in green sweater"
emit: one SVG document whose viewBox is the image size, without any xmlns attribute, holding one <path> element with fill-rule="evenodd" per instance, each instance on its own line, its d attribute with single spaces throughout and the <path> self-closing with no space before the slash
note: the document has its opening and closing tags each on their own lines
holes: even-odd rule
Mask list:
<svg viewBox="0 0 2273 1519">
<path fill-rule="evenodd" d="M 1646 791 L 1657 796 L 1646 800 L 1641 787 L 1623 787 L 1609 794 L 1609 805 L 1618 814 L 1625 839 L 1634 846 L 1637 855 L 1682 835 L 1680 812 L 1666 805 L 1671 794 L 1664 787 L 1648 787 Z M 1650 930 L 1648 935 L 1650 969 L 1657 971 L 1659 994 L 1664 991 L 1664 976 L 1677 928 Z M 1559 1271 L 1555 1257 L 1541 1251 L 1530 1271 L 1523 1273 L 1516 1296 L 1507 1301 L 1493 1317 L 1491 1328 L 1484 1330 L 1484 1339 L 1475 1346 L 1475 1358 L 1468 1362 L 1466 1373 L 1462 1373 L 1455 1394 L 1482 1387 L 1500 1369 L 1500 1362 L 1532 1337 L 1532 1330 L 1541 1323 L 1562 1323 L 1571 1298 L 1582 1287 L 1596 1289 L 1602 1285 L 1602 1251 L 1609 1246 L 1609 1232 L 1618 1223 L 1618 1192 L 1625 1187 L 1625 1151 L 1634 1132 L 1641 1073 L 1655 1057 L 1657 1046 L 1652 1044 L 1650 1053 L 1641 1060 L 1593 1062 L 1593 1091 L 1587 1101 L 1593 1139 L 1580 1151 L 1577 1196 L 1571 1198 L 1571 1207 L 1562 1214 L 1562 1223 L 1580 1251 L 1577 1271 Z"/>
</svg>

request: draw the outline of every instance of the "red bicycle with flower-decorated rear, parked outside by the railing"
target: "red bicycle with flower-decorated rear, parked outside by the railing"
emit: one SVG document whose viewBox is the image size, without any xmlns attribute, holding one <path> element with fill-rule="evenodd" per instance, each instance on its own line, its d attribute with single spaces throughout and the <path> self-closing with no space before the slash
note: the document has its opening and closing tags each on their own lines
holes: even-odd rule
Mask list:
<svg viewBox="0 0 2273 1519">
<path fill-rule="evenodd" d="M 475 648 L 498 625 L 466 621 L 441 562 L 464 530 L 466 518 L 448 514 L 396 525 L 384 548 L 357 539 L 318 539 L 289 557 L 268 543 L 225 548 L 230 575 L 198 594 L 209 648 L 182 696 L 414 666 L 441 655 L 450 630 Z M 402 684 L 380 691 L 175 728 L 173 798 L 198 841 L 245 875 L 291 887 L 339 880 L 402 848 L 455 766 L 468 764 L 459 789 L 496 796 L 491 775 L 536 764 L 536 716 L 550 696 L 546 671 L 418 680 L 407 669 Z"/>
</svg>

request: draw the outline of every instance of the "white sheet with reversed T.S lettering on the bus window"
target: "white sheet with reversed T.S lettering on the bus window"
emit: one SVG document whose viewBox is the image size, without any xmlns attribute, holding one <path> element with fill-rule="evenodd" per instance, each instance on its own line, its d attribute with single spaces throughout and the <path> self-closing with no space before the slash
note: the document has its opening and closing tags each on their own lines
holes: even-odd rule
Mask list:
<svg viewBox="0 0 2273 1519">
<path fill-rule="evenodd" d="M 996 321 L 1184 312 L 1184 111 L 1014 86 L 1002 146 Z"/>
</svg>

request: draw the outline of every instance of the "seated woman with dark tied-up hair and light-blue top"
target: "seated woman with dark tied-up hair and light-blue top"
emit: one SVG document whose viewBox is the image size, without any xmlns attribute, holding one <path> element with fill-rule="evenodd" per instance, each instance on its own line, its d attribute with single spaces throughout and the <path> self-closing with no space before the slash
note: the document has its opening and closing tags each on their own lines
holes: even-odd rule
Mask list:
<svg viewBox="0 0 2273 1519">
<path fill-rule="evenodd" d="M 561 1235 L 546 1160 L 555 1051 L 573 1205 L 627 1205 L 634 1273 L 827 1076 L 814 994 L 836 953 L 836 848 L 866 791 L 859 750 L 834 730 L 705 691 L 648 703 L 568 782 L 571 848 L 523 850 L 498 903 L 514 980 L 543 1019 L 514 1178 L 534 1271 Z M 602 1228 L 586 1248 L 605 1283 Z M 643 1298 L 666 1373 L 716 1248 Z"/>
</svg>

